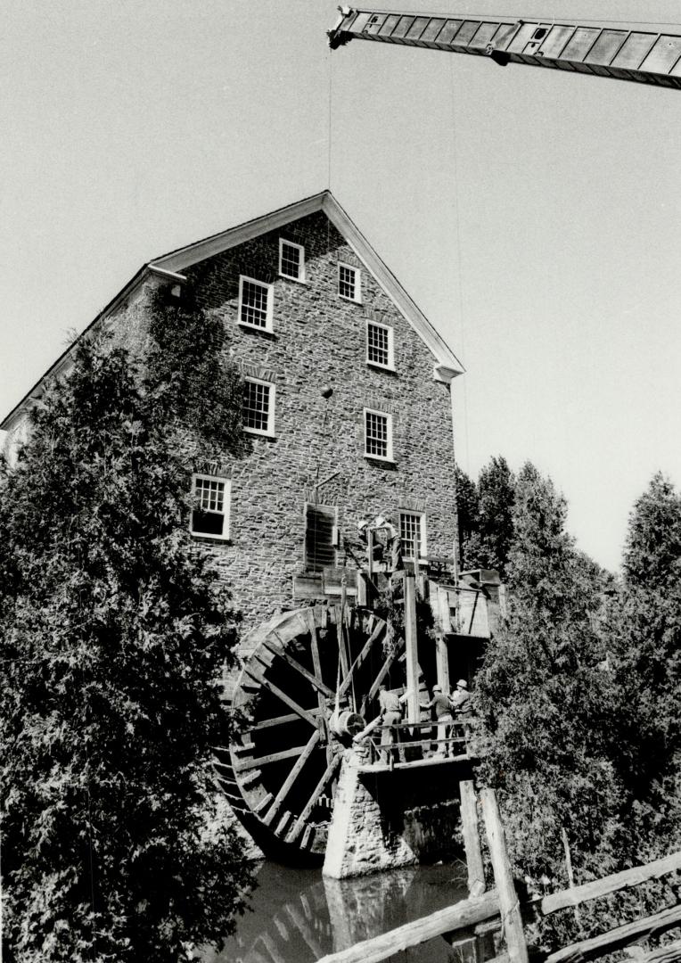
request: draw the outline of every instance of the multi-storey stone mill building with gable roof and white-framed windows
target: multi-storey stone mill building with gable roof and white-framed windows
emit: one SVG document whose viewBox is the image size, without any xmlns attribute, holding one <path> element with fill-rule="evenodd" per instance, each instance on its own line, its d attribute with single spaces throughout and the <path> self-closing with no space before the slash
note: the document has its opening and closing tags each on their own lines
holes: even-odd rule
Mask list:
<svg viewBox="0 0 681 963">
<path fill-rule="evenodd" d="M 188 525 L 246 628 L 340 591 L 362 518 L 399 527 L 408 557 L 452 560 L 451 381 L 458 359 L 324 192 L 150 261 L 92 325 L 134 339 L 150 291 L 193 286 L 245 377 L 243 459 L 196 464 Z M 68 365 L 68 352 L 47 376 Z M 2 423 L 12 459 L 39 382 Z M 326 575 L 325 575 L 326 571 Z M 351 578 L 348 591 L 354 594 Z"/>
</svg>

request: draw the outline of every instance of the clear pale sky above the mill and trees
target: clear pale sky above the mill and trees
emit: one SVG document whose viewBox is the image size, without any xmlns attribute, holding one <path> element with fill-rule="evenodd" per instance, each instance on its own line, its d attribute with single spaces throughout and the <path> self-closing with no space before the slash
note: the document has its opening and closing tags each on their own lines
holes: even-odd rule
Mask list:
<svg viewBox="0 0 681 963">
<path fill-rule="evenodd" d="M 384 6 L 681 33 L 677 0 L 525 4 Z M 144 262 L 330 183 L 466 367 L 461 467 L 531 459 L 616 566 L 652 474 L 681 483 L 681 91 L 331 54 L 336 19 L 331 0 L 6 0 L 2 415 Z"/>
</svg>

